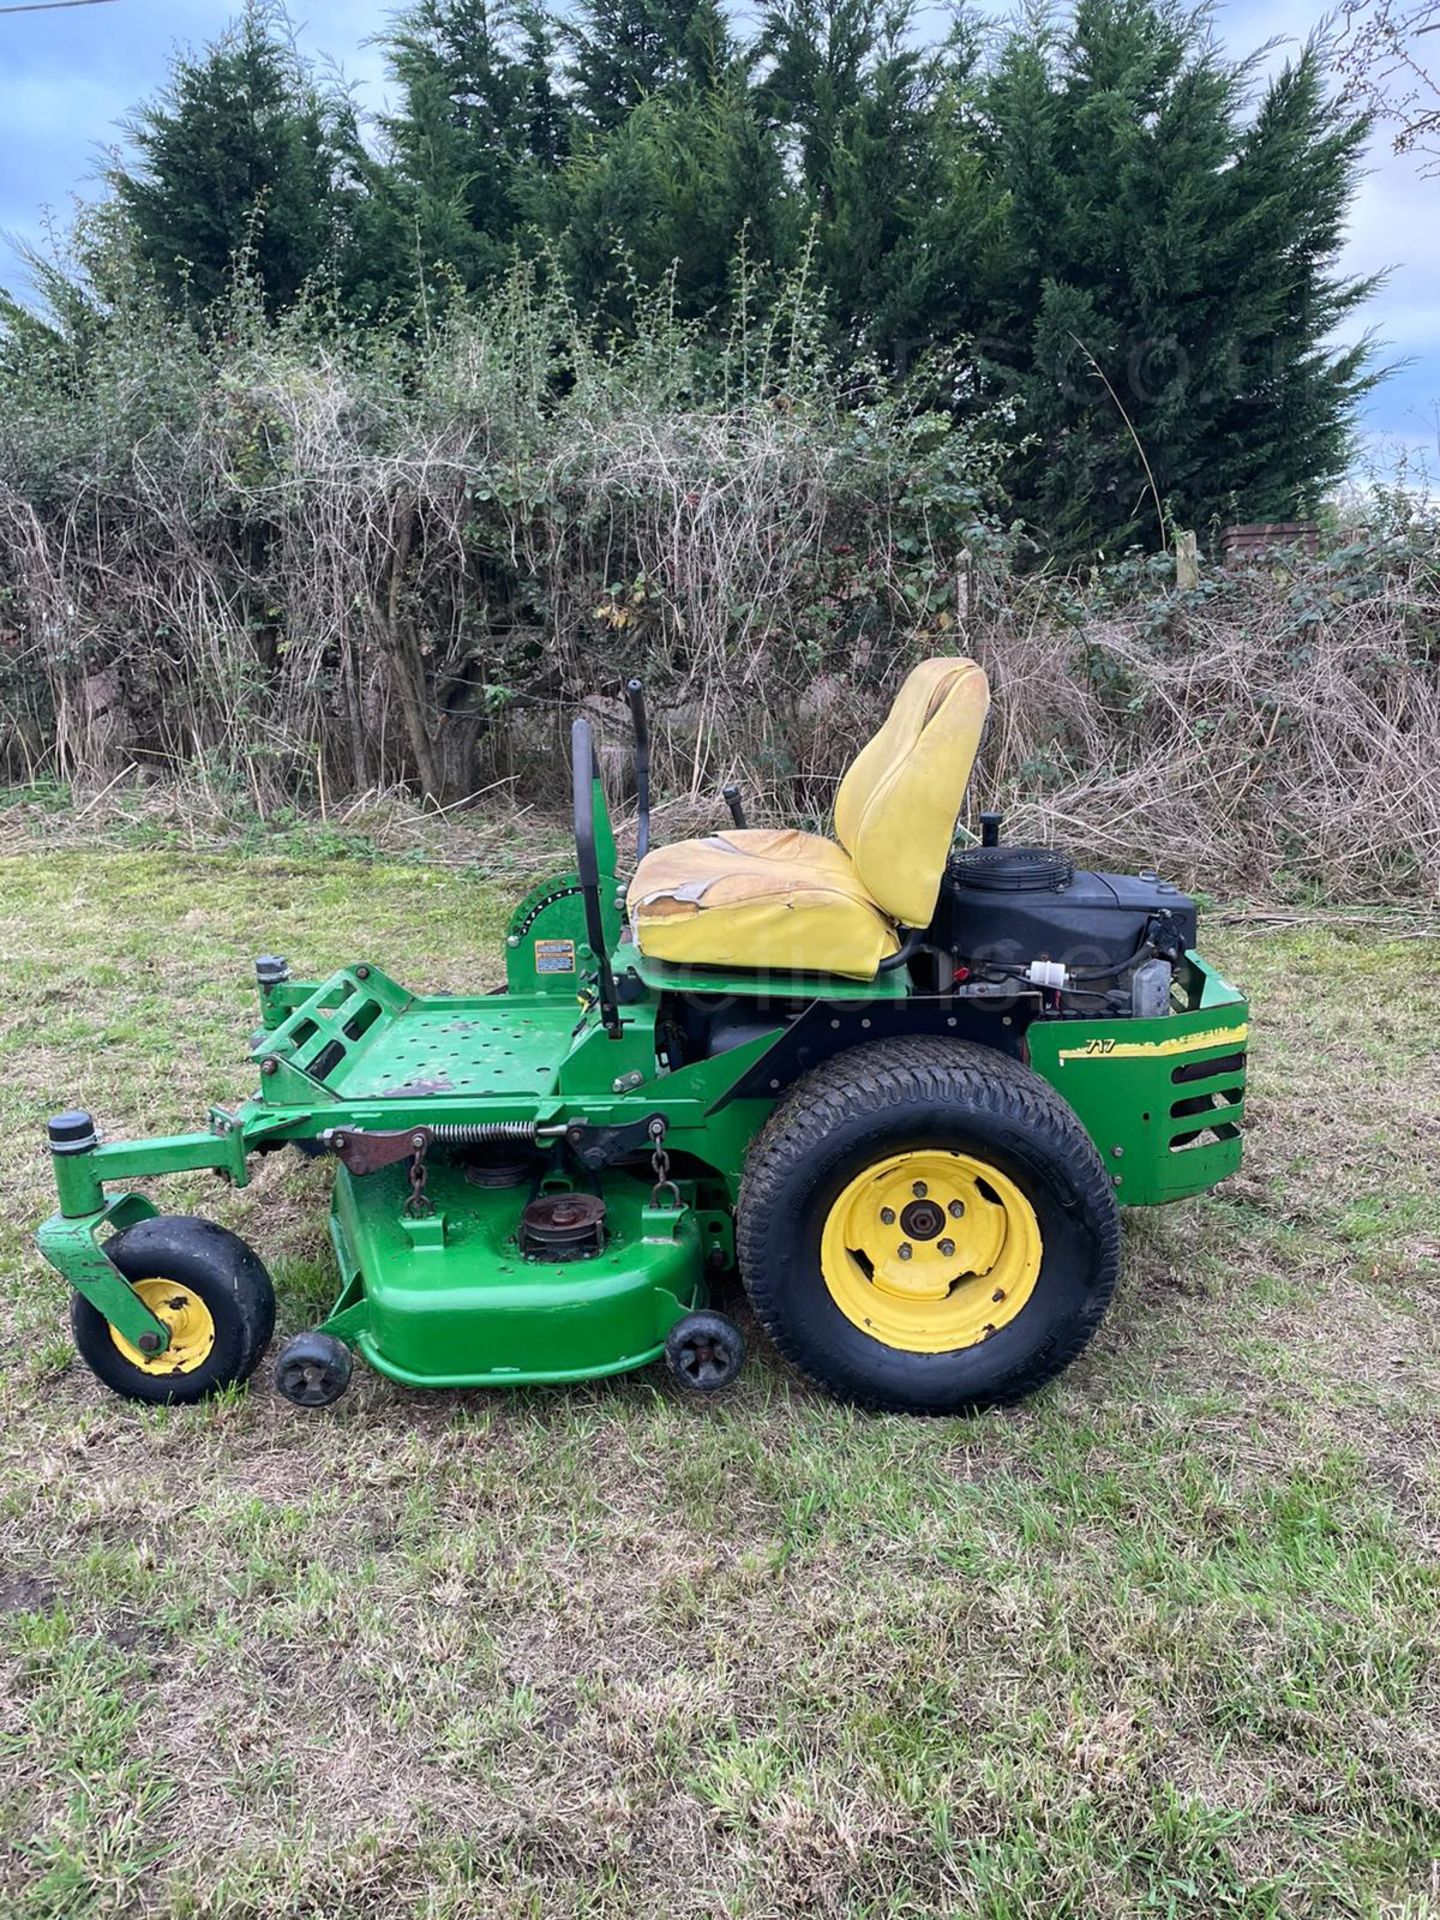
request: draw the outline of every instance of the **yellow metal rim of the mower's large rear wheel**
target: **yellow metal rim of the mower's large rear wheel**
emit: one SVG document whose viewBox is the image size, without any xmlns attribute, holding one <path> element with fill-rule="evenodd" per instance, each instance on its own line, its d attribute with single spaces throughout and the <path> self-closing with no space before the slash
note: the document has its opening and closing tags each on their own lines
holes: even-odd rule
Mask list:
<svg viewBox="0 0 1440 1920">
<path fill-rule="evenodd" d="M 1041 1223 L 1008 1175 L 970 1154 L 891 1154 L 856 1173 L 820 1233 L 835 1306 L 902 1354 L 952 1354 L 1035 1292 Z"/>
</svg>

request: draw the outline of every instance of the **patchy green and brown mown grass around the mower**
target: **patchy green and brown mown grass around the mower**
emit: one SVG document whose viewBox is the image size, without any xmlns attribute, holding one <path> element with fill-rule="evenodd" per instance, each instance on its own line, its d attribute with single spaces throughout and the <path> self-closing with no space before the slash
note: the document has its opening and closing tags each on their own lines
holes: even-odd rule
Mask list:
<svg viewBox="0 0 1440 1920">
<path fill-rule="evenodd" d="M 0 864 L 0 1908 L 1290 1920 L 1440 1912 L 1436 945 L 1212 920 L 1254 996 L 1221 1192 L 1131 1221 L 1029 1405 L 753 1365 L 140 1411 L 31 1250 L 38 1131 L 248 1089 L 248 956 L 490 983 L 424 864 Z M 323 1173 L 171 1181 L 328 1286 Z"/>
</svg>

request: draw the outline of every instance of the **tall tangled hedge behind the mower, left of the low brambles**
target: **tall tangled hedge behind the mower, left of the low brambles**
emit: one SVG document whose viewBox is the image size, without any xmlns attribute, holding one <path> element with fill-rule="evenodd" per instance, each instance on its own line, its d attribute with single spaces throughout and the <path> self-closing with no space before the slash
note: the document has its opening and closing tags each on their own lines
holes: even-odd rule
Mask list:
<svg viewBox="0 0 1440 1920">
<path fill-rule="evenodd" d="M 676 708 L 787 689 L 780 751 L 806 682 L 952 618 L 998 545 L 995 449 L 847 380 L 803 280 L 720 344 L 660 298 L 607 346 L 524 267 L 419 344 L 236 300 L 202 349 L 121 303 L 4 392 L 10 772 L 451 803 L 543 776 L 634 668 Z"/>
</svg>

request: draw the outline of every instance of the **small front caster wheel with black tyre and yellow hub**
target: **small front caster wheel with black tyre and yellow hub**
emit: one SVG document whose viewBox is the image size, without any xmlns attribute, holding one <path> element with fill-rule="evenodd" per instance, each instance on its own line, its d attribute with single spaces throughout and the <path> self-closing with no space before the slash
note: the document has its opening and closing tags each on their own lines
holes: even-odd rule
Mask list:
<svg viewBox="0 0 1440 1920">
<path fill-rule="evenodd" d="M 71 1296 L 81 1359 L 113 1394 L 192 1405 L 248 1380 L 275 1332 L 275 1286 L 259 1256 L 227 1227 L 184 1213 L 136 1221 L 106 1254 L 171 1327 L 163 1354 L 142 1354 L 84 1294 Z"/>
</svg>

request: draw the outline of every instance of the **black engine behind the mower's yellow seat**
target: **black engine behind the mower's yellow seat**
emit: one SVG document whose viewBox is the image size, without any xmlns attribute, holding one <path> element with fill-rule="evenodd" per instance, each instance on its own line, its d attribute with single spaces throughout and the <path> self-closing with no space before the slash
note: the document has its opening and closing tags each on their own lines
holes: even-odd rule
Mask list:
<svg viewBox="0 0 1440 1920">
<path fill-rule="evenodd" d="M 970 847 L 950 856 L 933 931 L 973 972 L 1119 968 L 1158 914 L 1194 947 L 1194 900 L 1158 874 L 1089 874 L 1054 847 Z"/>
</svg>

